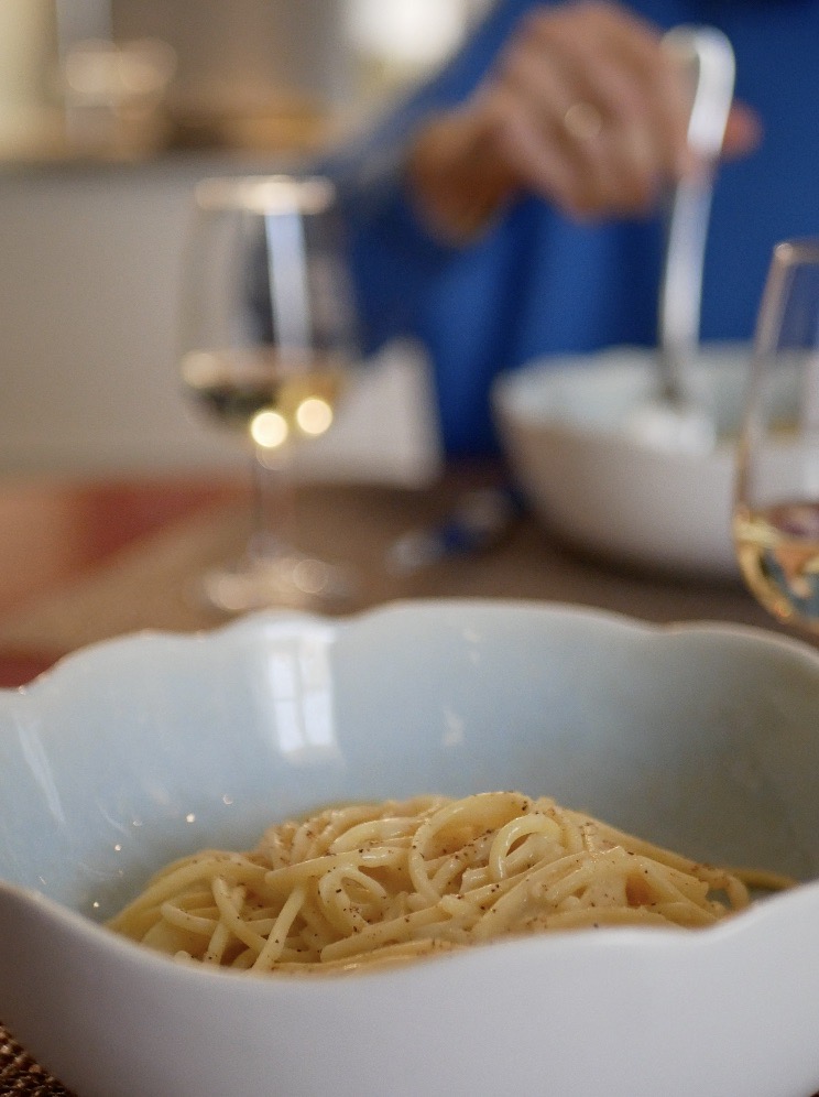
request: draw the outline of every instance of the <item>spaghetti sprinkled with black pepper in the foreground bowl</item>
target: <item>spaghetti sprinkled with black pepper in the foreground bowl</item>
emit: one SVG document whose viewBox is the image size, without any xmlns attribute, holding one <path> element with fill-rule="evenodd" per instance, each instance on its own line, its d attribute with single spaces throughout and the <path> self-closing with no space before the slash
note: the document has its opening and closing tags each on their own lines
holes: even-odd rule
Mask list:
<svg viewBox="0 0 819 1097">
<path fill-rule="evenodd" d="M 489 792 L 272 826 L 251 852 L 204 850 L 170 865 L 109 925 L 183 960 L 305 971 L 535 931 L 707 926 L 749 902 L 742 873 L 547 797 Z"/>
</svg>

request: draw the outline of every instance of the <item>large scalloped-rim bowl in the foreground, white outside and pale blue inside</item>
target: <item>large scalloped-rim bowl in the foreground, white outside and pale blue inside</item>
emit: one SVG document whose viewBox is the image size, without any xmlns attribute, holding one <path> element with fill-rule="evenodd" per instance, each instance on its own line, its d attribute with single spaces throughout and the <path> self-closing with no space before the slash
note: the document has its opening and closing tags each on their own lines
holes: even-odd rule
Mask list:
<svg viewBox="0 0 819 1097">
<path fill-rule="evenodd" d="M 174 964 L 97 922 L 167 859 L 330 801 L 546 793 L 819 872 L 819 654 L 523 602 L 140 634 L 0 691 L 0 1018 L 81 1097 L 819 1089 L 819 884 L 700 931 L 346 976 Z"/>
</svg>

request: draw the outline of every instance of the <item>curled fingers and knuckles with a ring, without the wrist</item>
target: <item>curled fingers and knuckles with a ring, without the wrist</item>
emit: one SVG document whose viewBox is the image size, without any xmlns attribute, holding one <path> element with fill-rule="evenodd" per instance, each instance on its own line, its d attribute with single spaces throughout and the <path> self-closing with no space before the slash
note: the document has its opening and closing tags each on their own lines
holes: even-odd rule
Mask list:
<svg viewBox="0 0 819 1097">
<path fill-rule="evenodd" d="M 537 9 L 476 107 L 521 187 L 577 217 L 646 210 L 692 167 L 685 76 L 659 33 L 612 3 Z"/>
</svg>

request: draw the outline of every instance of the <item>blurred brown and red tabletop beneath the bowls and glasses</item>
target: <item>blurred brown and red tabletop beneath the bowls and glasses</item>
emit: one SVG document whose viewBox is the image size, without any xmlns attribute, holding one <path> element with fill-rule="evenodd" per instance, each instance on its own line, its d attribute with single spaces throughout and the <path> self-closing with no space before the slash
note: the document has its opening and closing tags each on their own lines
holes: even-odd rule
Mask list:
<svg viewBox="0 0 819 1097">
<path fill-rule="evenodd" d="M 487 597 L 596 606 L 649 621 L 720 620 L 777 629 L 739 580 L 651 576 L 583 558 L 531 515 L 484 553 L 396 577 L 387 550 L 441 521 L 492 466 L 450 469 L 425 490 L 309 486 L 301 491 L 305 548 L 349 560 L 359 576 L 346 611 L 396 598 Z M 195 631 L 226 618 L 196 578 L 237 556 L 249 530 L 247 486 L 231 480 L 0 480 L 0 686 L 18 686 L 87 643 L 140 629 Z M 0 1003 L 1 1009 L 1 1003 Z M 0 1028 L 0 1091 L 64 1094 Z"/>
</svg>

